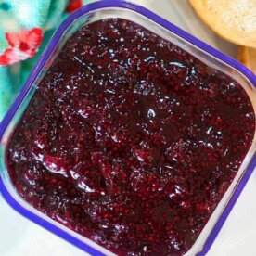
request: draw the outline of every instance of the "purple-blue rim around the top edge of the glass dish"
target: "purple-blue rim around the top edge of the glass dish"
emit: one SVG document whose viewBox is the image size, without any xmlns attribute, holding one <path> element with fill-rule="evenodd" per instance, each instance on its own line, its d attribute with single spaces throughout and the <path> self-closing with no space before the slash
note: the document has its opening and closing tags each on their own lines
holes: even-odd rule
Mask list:
<svg viewBox="0 0 256 256">
<path fill-rule="evenodd" d="M 250 82 L 256 87 L 256 76 L 254 76 L 250 70 L 248 70 L 246 67 L 241 65 L 237 62 L 237 60 L 233 58 L 229 58 L 228 56 L 224 55 L 220 51 L 212 48 L 210 45 L 207 45 L 200 40 L 198 40 L 196 37 L 188 34 L 187 32 L 179 29 L 169 21 L 160 18 L 160 16 L 156 15 L 155 13 L 147 10 L 147 8 L 143 6 L 137 6 L 132 3 L 128 3 L 122 0 L 102 0 L 98 1 L 96 3 L 91 3 L 86 6 L 81 7 L 80 9 L 74 11 L 70 16 L 65 19 L 60 26 L 58 27 L 58 30 L 55 32 L 53 37 L 51 38 L 49 44 L 45 47 L 45 51 L 41 58 L 37 61 L 36 65 L 31 71 L 30 76 L 28 77 L 26 83 L 22 87 L 22 89 L 19 92 L 19 96 L 15 99 L 10 109 L 7 111 L 6 116 L 4 117 L 3 121 L 0 123 L 0 141 L 2 140 L 2 136 L 6 131 L 6 127 L 8 126 L 9 122 L 13 118 L 14 114 L 16 113 L 17 109 L 19 108 L 20 103 L 24 99 L 24 97 L 27 95 L 29 89 L 32 87 L 33 82 L 35 81 L 36 77 L 38 76 L 40 70 L 43 69 L 45 66 L 45 63 L 47 59 L 50 57 L 51 53 L 53 52 L 55 46 L 57 45 L 59 39 L 61 38 L 62 34 L 66 31 L 66 29 L 70 26 L 72 22 L 75 21 L 75 19 L 81 18 L 83 15 L 90 13 L 91 11 L 107 8 L 107 7 L 121 7 L 124 9 L 129 9 L 134 12 L 137 12 L 145 17 L 147 19 L 151 19 L 152 21 L 158 23 L 161 27 L 173 32 L 177 36 L 183 38 L 187 42 L 191 43 L 192 45 L 198 46 L 198 48 L 202 49 L 203 51 L 208 52 L 212 57 L 219 58 L 224 63 L 228 64 L 229 66 L 235 68 L 236 70 L 243 73 Z M 233 206 L 235 205 L 237 198 L 241 194 L 244 186 L 248 182 L 250 178 L 250 174 L 253 172 L 254 167 L 256 166 L 256 153 L 253 155 L 252 159 L 250 160 L 250 164 L 247 168 L 247 170 L 243 173 L 240 181 L 237 184 L 237 187 L 232 194 L 231 198 L 229 199 L 228 203 L 226 204 L 223 213 L 221 214 L 220 218 L 218 219 L 217 223 L 214 225 L 213 229 L 211 230 L 211 233 L 209 237 L 207 238 L 205 244 L 203 245 L 202 249 L 198 252 L 198 256 L 205 255 L 208 250 L 210 250 L 211 245 L 214 241 L 214 239 L 217 237 L 218 233 L 220 232 L 222 226 L 224 225 L 224 221 L 226 220 L 229 212 L 232 210 Z M 76 247 L 91 253 L 92 255 L 104 255 L 98 250 L 92 248 L 91 246 L 84 244 L 81 240 L 79 240 L 76 237 L 72 237 L 70 234 L 66 233 L 62 229 L 58 228 L 56 225 L 51 224 L 44 219 L 41 219 L 39 216 L 37 216 L 35 213 L 32 213 L 31 211 L 26 210 L 23 208 L 19 203 L 12 198 L 10 193 L 8 192 L 6 186 L 4 185 L 4 182 L 2 178 L 0 177 L 0 192 L 2 193 L 3 197 L 6 199 L 7 203 L 16 211 L 18 211 L 21 215 L 24 217 L 30 219 L 35 224 L 39 224 L 48 231 L 54 233 L 58 237 L 62 237 L 65 240 L 69 241 L 71 244 L 75 245 Z"/>
</svg>

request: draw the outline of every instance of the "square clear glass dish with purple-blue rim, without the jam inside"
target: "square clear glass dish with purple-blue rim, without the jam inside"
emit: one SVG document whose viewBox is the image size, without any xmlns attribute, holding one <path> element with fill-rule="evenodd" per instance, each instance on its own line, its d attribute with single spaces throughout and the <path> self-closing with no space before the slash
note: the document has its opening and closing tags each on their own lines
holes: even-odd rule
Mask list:
<svg viewBox="0 0 256 256">
<path fill-rule="evenodd" d="M 40 224 L 59 237 L 63 237 L 67 241 L 70 241 L 70 243 L 93 255 L 114 254 L 100 247 L 95 242 L 71 231 L 69 228 L 58 224 L 45 216 L 42 212 L 36 211 L 31 205 L 20 198 L 8 176 L 6 168 L 6 147 L 38 83 L 41 81 L 42 77 L 44 77 L 45 71 L 51 66 L 53 59 L 58 57 L 59 51 L 61 51 L 70 36 L 84 25 L 107 18 L 122 18 L 134 21 L 147 30 L 155 32 L 160 37 L 180 46 L 208 66 L 228 74 L 243 86 L 250 97 L 254 112 L 256 113 L 256 78 L 250 70 L 247 70 L 244 66 L 237 63 L 236 60 L 228 58 L 221 52 L 211 48 L 211 46 L 200 42 L 188 33 L 178 29 L 168 21 L 161 19 L 146 8 L 124 1 L 101 1 L 83 6 L 81 9 L 72 13 L 70 17 L 59 26 L 50 43 L 46 46 L 44 54 L 35 65 L 30 77 L 20 91 L 19 96 L 16 98 L 1 123 L 0 190 L 9 205 L 16 211 L 19 211 L 19 213 L 32 220 L 34 223 Z M 204 255 L 210 249 L 214 238 L 220 231 L 224 220 L 229 211 L 231 211 L 243 187 L 246 185 L 250 173 L 256 165 L 255 134 L 250 151 L 243 161 L 236 178 L 227 189 L 215 211 L 211 214 L 209 222 L 200 233 L 191 250 L 186 252 L 186 255 Z"/>
</svg>

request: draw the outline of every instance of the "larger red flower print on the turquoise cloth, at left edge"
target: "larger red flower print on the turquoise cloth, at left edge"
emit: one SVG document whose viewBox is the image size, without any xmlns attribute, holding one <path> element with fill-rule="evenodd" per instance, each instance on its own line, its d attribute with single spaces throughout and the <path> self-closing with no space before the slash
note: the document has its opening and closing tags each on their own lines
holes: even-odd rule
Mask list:
<svg viewBox="0 0 256 256">
<path fill-rule="evenodd" d="M 6 32 L 9 47 L 0 54 L 0 65 L 11 65 L 19 60 L 32 58 L 43 38 L 39 28 L 21 32 Z"/>
</svg>

